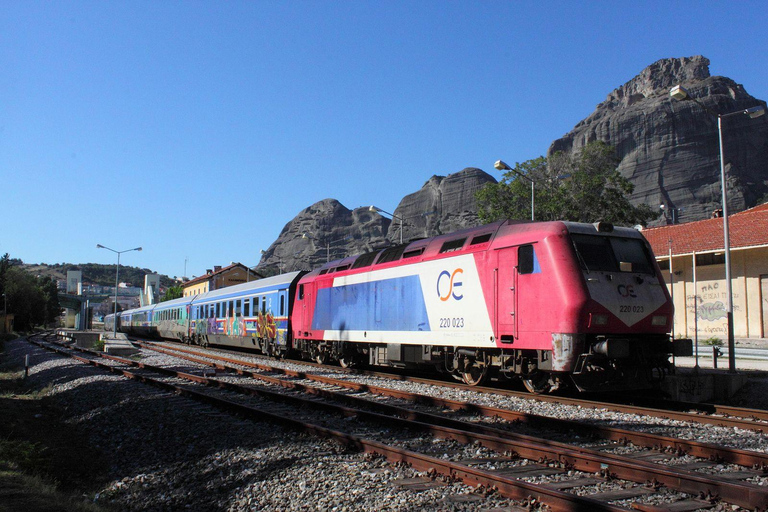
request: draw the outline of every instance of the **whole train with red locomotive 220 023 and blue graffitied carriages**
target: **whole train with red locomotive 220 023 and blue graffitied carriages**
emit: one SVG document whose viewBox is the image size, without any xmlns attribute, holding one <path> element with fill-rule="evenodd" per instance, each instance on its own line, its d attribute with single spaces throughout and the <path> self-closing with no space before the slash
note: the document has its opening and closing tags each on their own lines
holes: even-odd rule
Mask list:
<svg viewBox="0 0 768 512">
<path fill-rule="evenodd" d="M 123 311 L 105 330 L 532 393 L 646 389 L 690 355 L 636 229 L 498 221 Z"/>
</svg>

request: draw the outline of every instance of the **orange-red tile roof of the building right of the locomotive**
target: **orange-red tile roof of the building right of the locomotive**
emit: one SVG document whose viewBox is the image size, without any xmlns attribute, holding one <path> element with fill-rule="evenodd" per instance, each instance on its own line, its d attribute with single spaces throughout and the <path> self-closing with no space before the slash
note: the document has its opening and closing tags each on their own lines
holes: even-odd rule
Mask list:
<svg viewBox="0 0 768 512">
<path fill-rule="evenodd" d="M 728 231 L 731 249 L 768 245 L 768 203 L 729 215 Z M 725 246 L 722 217 L 648 228 L 642 233 L 657 256 L 669 254 L 670 239 L 672 254 L 722 251 Z"/>
</svg>

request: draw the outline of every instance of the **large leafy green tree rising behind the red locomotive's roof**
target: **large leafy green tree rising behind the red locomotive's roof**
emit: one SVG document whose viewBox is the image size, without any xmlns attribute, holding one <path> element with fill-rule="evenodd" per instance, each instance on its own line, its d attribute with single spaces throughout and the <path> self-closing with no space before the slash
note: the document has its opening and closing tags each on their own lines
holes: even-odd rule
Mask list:
<svg viewBox="0 0 768 512">
<path fill-rule="evenodd" d="M 530 182 L 535 183 L 535 217 L 538 221 L 609 221 L 617 225 L 645 225 L 658 217 L 650 206 L 633 206 L 629 195 L 634 185 L 618 171 L 615 149 L 591 142 L 575 155 L 556 153 L 549 159 L 517 163 L 501 181 L 477 193 L 480 219 L 530 218 Z"/>
</svg>

